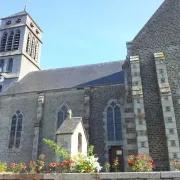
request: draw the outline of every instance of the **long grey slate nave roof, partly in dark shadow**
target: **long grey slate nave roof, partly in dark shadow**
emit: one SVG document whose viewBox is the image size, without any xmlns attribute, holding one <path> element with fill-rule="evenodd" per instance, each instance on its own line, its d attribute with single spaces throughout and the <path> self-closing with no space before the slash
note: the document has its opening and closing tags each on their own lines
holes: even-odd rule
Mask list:
<svg viewBox="0 0 180 180">
<path fill-rule="evenodd" d="M 122 64 L 123 61 L 113 61 L 109 63 L 33 71 L 28 73 L 20 81 L 12 84 L 4 94 L 124 84 Z"/>
</svg>

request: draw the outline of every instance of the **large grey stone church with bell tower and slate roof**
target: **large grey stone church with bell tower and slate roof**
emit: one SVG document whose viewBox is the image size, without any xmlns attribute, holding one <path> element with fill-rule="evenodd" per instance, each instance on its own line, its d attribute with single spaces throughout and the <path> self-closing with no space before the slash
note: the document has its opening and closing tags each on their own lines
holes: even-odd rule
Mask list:
<svg viewBox="0 0 180 180">
<path fill-rule="evenodd" d="M 163 2 L 122 61 L 41 70 L 42 33 L 26 11 L 1 19 L 0 161 L 40 153 L 55 161 L 42 139 L 55 141 L 71 110 L 101 165 L 119 157 L 126 171 L 128 155 L 145 153 L 156 170 L 172 169 L 180 159 L 180 1 Z"/>
</svg>

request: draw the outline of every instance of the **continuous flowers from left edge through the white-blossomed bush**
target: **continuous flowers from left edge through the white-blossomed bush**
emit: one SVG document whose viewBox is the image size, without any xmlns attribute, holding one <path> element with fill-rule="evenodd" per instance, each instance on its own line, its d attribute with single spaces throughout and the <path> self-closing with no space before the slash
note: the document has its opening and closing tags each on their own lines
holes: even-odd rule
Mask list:
<svg viewBox="0 0 180 180">
<path fill-rule="evenodd" d="M 36 161 L 30 161 L 27 164 L 10 163 L 8 165 L 0 162 L 0 173 L 95 173 L 101 170 L 98 158 L 93 154 L 93 146 L 89 147 L 87 155 L 79 153 L 70 157 L 67 151 L 53 141 L 45 139 L 45 142 L 61 159 L 63 158 L 62 161 L 46 163 L 46 156 L 41 154 Z"/>
</svg>

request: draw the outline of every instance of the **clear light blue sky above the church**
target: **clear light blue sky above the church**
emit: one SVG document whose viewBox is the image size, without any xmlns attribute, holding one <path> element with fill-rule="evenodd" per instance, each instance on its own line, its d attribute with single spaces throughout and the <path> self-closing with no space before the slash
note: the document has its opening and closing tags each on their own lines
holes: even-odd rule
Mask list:
<svg viewBox="0 0 180 180">
<path fill-rule="evenodd" d="M 1 2 L 0 17 L 22 11 L 25 0 Z M 41 68 L 59 68 L 126 57 L 130 41 L 163 0 L 28 0 L 43 29 Z"/>
</svg>

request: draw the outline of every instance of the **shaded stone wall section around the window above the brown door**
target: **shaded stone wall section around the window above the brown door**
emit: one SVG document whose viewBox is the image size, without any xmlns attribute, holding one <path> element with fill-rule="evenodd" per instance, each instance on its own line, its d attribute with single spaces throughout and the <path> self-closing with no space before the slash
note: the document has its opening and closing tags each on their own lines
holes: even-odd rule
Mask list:
<svg viewBox="0 0 180 180">
<path fill-rule="evenodd" d="M 95 153 L 99 157 L 101 165 L 108 161 L 108 149 L 106 147 L 107 139 L 105 138 L 104 117 L 106 106 L 109 100 L 117 100 L 121 104 L 122 116 L 124 111 L 125 88 L 124 85 L 114 85 L 106 87 L 96 87 L 91 89 L 90 95 L 90 121 L 89 135 L 90 144 L 95 146 Z M 122 117 L 122 123 L 124 117 Z M 116 142 L 114 142 L 116 143 Z M 116 144 L 114 144 L 116 145 Z M 118 142 L 118 145 L 120 143 Z"/>
</svg>

